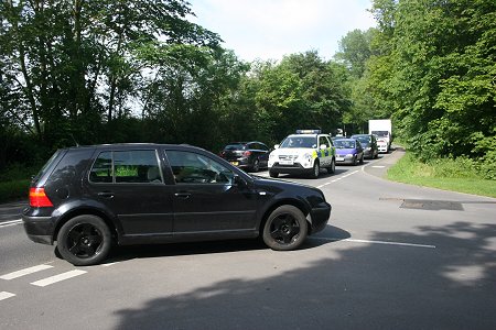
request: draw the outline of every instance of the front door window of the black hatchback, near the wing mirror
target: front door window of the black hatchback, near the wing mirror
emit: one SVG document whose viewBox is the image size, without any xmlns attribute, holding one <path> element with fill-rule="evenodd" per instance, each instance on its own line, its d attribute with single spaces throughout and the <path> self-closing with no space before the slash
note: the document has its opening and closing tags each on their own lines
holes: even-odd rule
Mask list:
<svg viewBox="0 0 496 330">
<path fill-rule="evenodd" d="M 201 154 L 166 151 L 176 184 L 231 184 L 234 173 Z"/>
</svg>

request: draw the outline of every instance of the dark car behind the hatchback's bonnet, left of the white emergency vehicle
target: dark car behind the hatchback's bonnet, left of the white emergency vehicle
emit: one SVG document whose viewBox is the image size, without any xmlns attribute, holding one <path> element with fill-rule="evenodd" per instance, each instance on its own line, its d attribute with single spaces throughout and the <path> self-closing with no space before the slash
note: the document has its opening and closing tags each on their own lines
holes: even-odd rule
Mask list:
<svg viewBox="0 0 496 330">
<path fill-rule="evenodd" d="M 220 157 L 235 166 L 258 172 L 267 168 L 269 152 L 269 147 L 261 142 L 231 142 L 220 152 Z"/>
</svg>

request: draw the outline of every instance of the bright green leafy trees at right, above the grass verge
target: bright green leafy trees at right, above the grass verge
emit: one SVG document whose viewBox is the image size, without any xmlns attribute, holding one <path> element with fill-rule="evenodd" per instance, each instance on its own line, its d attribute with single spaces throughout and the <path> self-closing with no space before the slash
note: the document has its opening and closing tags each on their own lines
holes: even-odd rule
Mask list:
<svg viewBox="0 0 496 330">
<path fill-rule="evenodd" d="M 374 112 L 388 109 L 419 158 L 470 158 L 494 178 L 496 2 L 375 0 L 373 13 Z"/>
</svg>

